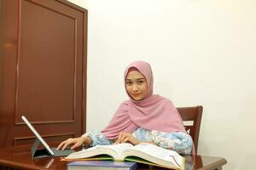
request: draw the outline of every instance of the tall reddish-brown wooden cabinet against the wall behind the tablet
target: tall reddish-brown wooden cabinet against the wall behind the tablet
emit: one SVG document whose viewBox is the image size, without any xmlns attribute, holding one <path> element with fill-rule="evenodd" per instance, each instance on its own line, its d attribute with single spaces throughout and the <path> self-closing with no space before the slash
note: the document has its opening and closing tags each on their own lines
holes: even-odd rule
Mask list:
<svg viewBox="0 0 256 170">
<path fill-rule="evenodd" d="M 64 0 L 0 0 L 0 147 L 85 132 L 87 10 Z"/>
</svg>

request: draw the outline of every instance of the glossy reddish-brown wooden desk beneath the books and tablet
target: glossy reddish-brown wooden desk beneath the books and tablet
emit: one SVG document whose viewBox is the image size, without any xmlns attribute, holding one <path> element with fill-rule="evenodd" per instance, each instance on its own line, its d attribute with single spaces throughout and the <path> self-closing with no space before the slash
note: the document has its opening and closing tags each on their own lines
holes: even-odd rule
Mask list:
<svg viewBox="0 0 256 170">
<path fill-rule="evenodd" d="M 187 162 L 189 163 L 189 162 Z M 227 161 L 224 158 L 212 156 L 195 156 L 194 169 L 220 170 Z M 59 157 L 32 160 L 31 145 L 22 145 L 0 149 L 0 169 L 12 167 L 13 169 L 67 169 L 66 161 Z M 148 169 L 142 165 L 139 169 Z M 163 169 L 163 168 L 160 168 Z"/>
</svg>

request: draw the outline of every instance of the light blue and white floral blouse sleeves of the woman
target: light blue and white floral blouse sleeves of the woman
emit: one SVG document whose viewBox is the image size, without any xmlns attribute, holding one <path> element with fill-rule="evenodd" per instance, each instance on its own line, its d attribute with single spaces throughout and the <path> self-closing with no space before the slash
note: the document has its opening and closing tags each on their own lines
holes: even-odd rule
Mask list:
<svg viewBox="0 0 256 170">
<path fill-rule="evenodd" d="M 90 137 L 92 140 L 91 146 L 113 144 L 112 139 L 107 139 L 104 134 L 99 131 L 84 133 L 83 136 Z M 138 127 L 137 130 L 132 133 L 132 136 L 140 141 L 154 142 L 154 144 L 162 148 L 175 150 L 180 154 L 191 154 L 193 142 L 188 133 L 164 133 Z"/>
</svg>

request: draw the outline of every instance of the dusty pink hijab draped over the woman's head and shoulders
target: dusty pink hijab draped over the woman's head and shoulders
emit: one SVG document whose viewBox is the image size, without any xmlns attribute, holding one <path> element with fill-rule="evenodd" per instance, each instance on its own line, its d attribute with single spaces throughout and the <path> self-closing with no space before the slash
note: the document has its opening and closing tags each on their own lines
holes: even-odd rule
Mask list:
<svg viewBox="0 0 256 170">
<path fill-rule="evenodd" d="M 166 133 L 186 132 L 183 121 L 170 99 L 153 94 L 153 74 L 147 62 L 135 61 L 125 70 L 125 79 L 129 71 L 137 69 L 146 78 L 148 94 L 140 101 L 130 99 L 123 102 L 113 115 L 102 133 L 108 139 L 117 139 L 119 133 L 132 133 L 137 127 Z M 126 92 L 127 93 L 127 92 Z M 127 93 L 128 94 L 128 93 Z M 129 95 L 129 94 L 128 94 Z"/>
</svg>

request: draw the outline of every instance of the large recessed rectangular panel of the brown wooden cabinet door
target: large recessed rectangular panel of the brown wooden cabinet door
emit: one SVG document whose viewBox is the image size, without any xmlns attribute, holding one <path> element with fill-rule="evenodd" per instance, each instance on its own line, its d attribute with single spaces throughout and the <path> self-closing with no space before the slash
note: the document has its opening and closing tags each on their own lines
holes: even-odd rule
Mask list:
<svg viewBox="0 0 256 170">
<path fill-rule="evenodd" d="M 76 20 L 21 2 L 15 116 L 20 120 L 26 115 L 33 122 L 73 121 L 80 74 L 75 71 Z"/>
</svg>

